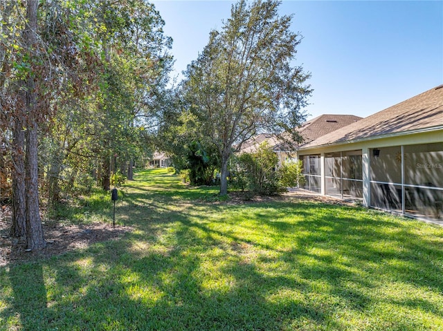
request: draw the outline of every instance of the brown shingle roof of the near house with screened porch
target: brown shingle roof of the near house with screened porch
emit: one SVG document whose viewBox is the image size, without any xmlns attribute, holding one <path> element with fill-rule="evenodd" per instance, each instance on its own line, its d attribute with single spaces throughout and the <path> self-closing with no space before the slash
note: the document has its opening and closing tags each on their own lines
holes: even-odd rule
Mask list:
<svg viewBox="0 0 443 331">
<path fill-rule="evenodd" d="M 443 126 L 443 85 L 431 88 L 316 140 L 302 149 Z"/>
</svg>

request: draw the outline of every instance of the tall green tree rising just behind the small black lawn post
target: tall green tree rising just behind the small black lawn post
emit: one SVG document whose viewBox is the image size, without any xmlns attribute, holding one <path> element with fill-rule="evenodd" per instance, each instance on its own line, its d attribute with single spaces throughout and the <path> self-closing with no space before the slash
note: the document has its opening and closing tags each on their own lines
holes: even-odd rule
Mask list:
<svg viewBox="0 0 443 331">
<path fill-rule="evenodd" d="M 140 147 L 136 143 L 143 141 L 142 131 L 159 107 L 152 100 L 167 82 L 172 41 L 163 35 L 164 21 L 152 4 L 143 0 L 98 3 L 105 70 L 96 104 L 96 133 L 100 136 L 101 185 L 107 190 L 111 155 L 117 153 L 131 164 Z"/>
</svg>

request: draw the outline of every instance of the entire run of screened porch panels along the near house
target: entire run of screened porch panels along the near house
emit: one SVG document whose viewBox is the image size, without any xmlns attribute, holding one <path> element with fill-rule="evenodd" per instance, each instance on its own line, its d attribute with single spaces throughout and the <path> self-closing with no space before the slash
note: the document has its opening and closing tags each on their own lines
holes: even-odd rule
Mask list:
<svg viewBox="0 0 443 331">
<path fill-rule="evenodd" d="M 303 188 L 443 223 L 443 142 L 363 151 L 300 156 L 305 174 Z M 363 169 L 368 169 L 369 176 L 364 176 Z"/>
</svg>

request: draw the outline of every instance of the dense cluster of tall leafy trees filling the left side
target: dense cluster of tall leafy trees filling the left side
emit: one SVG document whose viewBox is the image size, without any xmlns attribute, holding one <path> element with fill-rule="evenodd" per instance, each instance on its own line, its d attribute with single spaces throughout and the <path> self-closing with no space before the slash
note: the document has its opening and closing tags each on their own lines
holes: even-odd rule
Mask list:
<svg viewBox="0 0 443 331">
<path fill-rule="evenodd" d="M 10 176 L 12 235 L 41 249 L 43 196 L 87 176 L 109 189 L 111 155 L 146 148 L 172 40 L 144 0 L 6 0 L 0 13 L 0 184 Z"/>
</svg>

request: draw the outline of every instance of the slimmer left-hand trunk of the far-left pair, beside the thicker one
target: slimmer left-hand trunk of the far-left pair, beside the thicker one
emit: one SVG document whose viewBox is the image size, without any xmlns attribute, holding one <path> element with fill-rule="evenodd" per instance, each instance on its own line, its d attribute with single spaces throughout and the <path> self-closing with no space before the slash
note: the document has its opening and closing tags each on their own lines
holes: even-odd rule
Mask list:
<svg viewBox="0 0 443 331">
<path fill-rule="evenodd" d="M 25 191 L 25 133 L 21 115 L 18 115 L 13 131 L 12 152 L 12 226 L 11 236 L 26 236 Z"/>
</svg>

